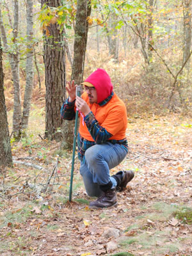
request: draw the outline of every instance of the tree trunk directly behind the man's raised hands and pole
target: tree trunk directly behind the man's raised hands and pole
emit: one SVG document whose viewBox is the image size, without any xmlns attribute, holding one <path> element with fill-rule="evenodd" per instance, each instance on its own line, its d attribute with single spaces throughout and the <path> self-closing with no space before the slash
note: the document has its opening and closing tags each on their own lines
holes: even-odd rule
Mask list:
<svg viewBox="0 0 192 256">
<path fill-rule="evenodd" d="M 74 41 L 74 60 L 72 65 L 71 80 L 76 84 L 83 82 L 84 59 L 86 52 L 88 22 L 87 17 L 91 14 L 91 5 L 88 0 L 77 0 L 76 28 Z M 74 122 L 64 120 L 62 132 L 63 140 L 61 148 L 72 149 Z"/>
</svg>

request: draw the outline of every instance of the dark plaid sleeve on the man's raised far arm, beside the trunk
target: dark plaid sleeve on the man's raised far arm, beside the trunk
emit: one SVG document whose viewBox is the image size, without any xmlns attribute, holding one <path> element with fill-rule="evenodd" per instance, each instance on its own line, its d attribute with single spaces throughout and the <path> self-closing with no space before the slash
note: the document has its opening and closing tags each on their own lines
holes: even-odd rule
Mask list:
<svg viewBox="0 0 192 256">
<path fill-rule="evenodd" d="M 73 102 L 68 102 L 65 100 L 63 106 L 61 107 L 61 118 L 65 120 L 73 120 L 76 118 L 76 112 L 74 110 L 76 100 Z"/>
</svg>

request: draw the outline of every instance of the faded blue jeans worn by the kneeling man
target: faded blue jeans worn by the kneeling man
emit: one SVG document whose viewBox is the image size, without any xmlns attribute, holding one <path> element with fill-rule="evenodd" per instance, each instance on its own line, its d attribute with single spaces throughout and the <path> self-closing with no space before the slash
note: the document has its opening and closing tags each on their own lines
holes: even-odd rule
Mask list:
<svg viewBox="0 0 192 256">
<path fill-rule="evenodd" d="M 80 173 L 88 196 L 100 196 L 100 185 L 110 181 L 116 186 L 116 180 L 110 177 L 109 170 L 117 166 L 126 156 L 127 150 L 120 144 L 106 142 L 88 148 L 81 161 Z"/>
</svg>

